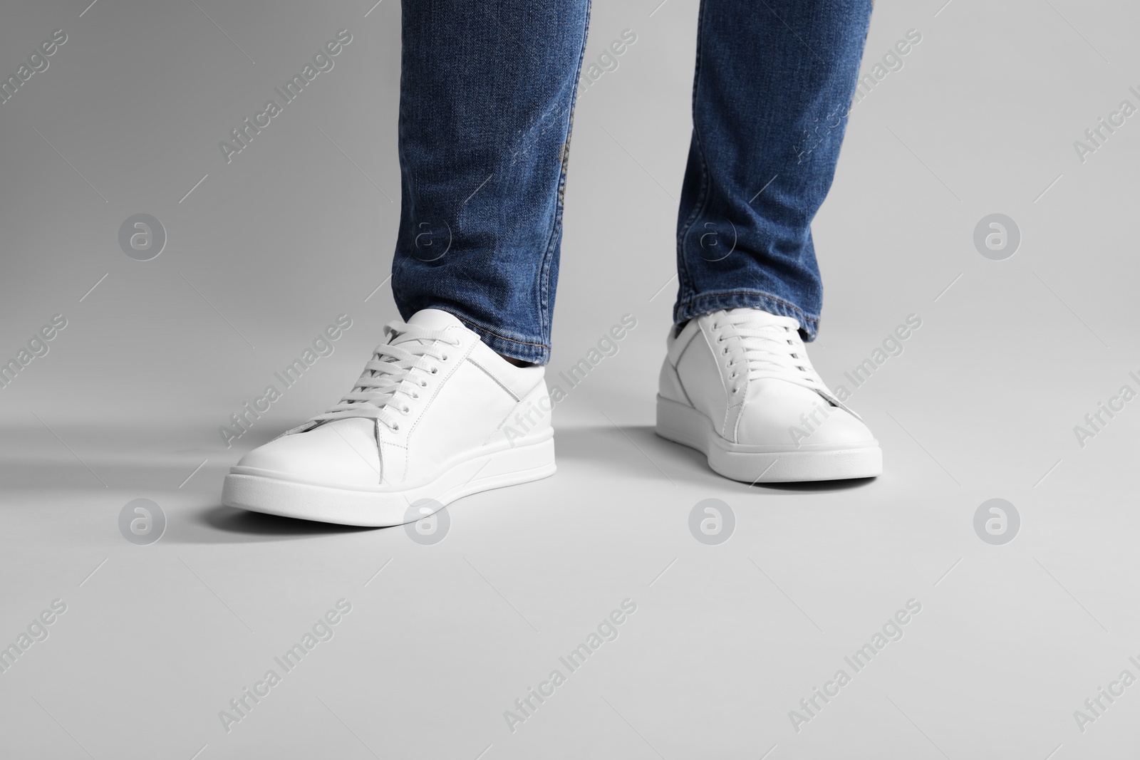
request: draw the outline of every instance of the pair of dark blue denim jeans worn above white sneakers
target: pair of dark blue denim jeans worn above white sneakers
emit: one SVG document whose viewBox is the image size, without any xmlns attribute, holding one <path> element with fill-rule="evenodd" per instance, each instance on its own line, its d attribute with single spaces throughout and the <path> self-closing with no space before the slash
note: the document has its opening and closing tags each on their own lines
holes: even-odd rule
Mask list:
<svg viewBox="0 0 1140 760">
<path fill-rule="evenodd" d="M 545 363 L 589 0 L 404 0 L 392 292 Z M 812 219 L 871 0 L 702 0 L 674 320 L 751 307 L 815 337 Z M 646 285 L 650 285 L 646 283 Z"/>
</svg>

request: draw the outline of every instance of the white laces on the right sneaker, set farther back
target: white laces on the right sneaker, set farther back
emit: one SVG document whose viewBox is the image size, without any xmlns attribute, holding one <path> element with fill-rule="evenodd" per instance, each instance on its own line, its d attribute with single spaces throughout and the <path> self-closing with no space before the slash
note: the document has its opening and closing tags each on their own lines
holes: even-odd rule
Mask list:
<svg viewBox="0 0 1140 760">
<path fill-rule="evenodd" d="M 831 400 L 833 397 L 812 367 L 799 337 L 799 322 L 790 317 L 765 314 L 756 319 L 751 309 L 733 309 L 712 322 L 720 351 L 728 354 L 730 377 L 736 379 L 732 393 L 739 393 L 743 379 L 776 378 L 801 385 Z M 732 340 L 739 338 L 739 340 Z M 746 371 L 747 366 L 747 371 Z"/>
</svg>

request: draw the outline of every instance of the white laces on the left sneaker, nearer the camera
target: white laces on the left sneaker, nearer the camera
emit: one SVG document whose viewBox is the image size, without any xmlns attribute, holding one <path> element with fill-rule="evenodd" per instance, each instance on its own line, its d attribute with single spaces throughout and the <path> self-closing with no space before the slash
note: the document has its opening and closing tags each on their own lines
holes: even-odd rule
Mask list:
<svg viewBox="0 0 1140 760">
<path fill-rule="evenodd" d="M 446 330 L 399 320 L 384 325 L 384 336 L 388 342 L 373 351 L 352 391 L 310 423 L 364 417 L 376 419 L 392 431 L 400 430 L 399 416 L 412 410 L 408 402 L 418 399 L 420 391 L 439 373 L 438 362 L 447 361 L 448 349 L 459 345 Z"/>
</svg>

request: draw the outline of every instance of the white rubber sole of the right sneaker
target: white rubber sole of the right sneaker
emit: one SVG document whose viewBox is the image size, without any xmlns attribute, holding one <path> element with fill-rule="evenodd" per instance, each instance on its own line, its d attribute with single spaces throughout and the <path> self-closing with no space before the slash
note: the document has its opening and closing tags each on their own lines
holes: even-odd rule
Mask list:
<svg viewBox="0 0 1140 760">
<path fill-rule="evenodd" d="M 882 474 L 882 450 L 857 447 L 743 446 L 724 440 L 697 409 L 657 397 L 657 434 L 705 453 L 714 472 L 744 483 L 849 480 Z"/>
</svg>

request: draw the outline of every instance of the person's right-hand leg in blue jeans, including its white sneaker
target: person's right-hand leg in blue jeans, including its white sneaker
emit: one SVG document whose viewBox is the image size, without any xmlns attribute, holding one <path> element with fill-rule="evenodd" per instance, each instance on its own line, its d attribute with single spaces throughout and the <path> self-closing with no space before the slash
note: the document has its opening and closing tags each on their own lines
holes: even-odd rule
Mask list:
<svg viewBox="0 0 1140 760">
<path fill-rule="evenodd" d="M 679 288 L 657 432 L 734 480 L 872 477 L 882 452 L 812 368 L 812 218 L 836 170 L 870 0 L 702 0 Z"/>
</svg>

